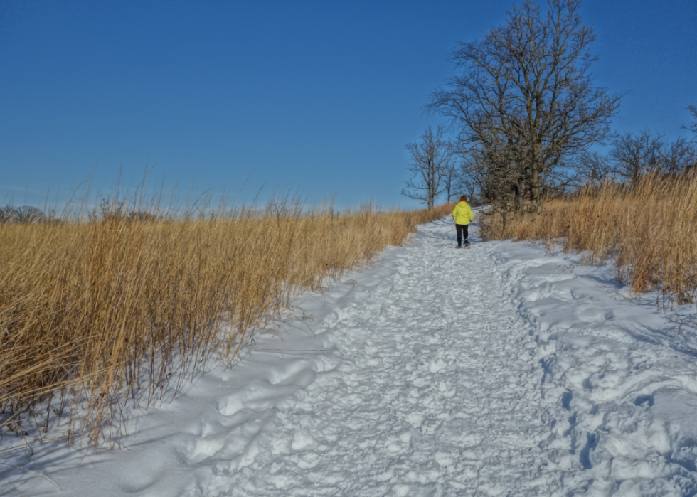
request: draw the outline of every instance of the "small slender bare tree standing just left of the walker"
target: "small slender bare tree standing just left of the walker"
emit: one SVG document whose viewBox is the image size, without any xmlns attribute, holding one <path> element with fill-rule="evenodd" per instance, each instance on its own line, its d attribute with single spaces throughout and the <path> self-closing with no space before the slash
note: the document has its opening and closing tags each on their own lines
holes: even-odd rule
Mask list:
<svg viewBox="0 0 697 497">
<path fill-rule="evenodd" d="M 438 127 L 435 135 L 429 126 L 421 141 L 407 144 L 411 160 L 409 171 L 412 178 L 407 181 L 407 188 L 402 188 L 402 195 L 427 203 L 432 209 L 435 198 L 451 184 L 449 174 L 452 172 L 452 144 L 443 139 L 443 128 Z"/>
</svg>

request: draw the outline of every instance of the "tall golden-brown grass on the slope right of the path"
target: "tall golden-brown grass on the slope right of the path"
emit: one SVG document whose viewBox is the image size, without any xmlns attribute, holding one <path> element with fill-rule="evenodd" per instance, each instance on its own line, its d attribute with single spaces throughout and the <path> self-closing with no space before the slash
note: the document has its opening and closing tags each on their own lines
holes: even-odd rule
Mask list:
<svg viewBox="0 0 697 497">
<path fill-rule="evenodd" d="M 500 216 L 488 216 L 482 233 L 587 250 L 592 262 L 614 262 L 619 281 L 635 292 L 659 289 L 688 301 L 697 288 L 697 176 L 586 186 L 538 213 L 514 216 L 505 229 Z"/>
</svg>

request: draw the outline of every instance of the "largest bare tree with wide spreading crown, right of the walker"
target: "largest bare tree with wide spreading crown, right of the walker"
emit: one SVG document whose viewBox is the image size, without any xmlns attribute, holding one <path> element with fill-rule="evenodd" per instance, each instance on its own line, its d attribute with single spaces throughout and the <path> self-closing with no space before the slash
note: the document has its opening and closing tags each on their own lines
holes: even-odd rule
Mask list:
<svg viewBox="0 0 697 497">
<path fill-rule="evenodd" d="M 619 108 L 618 96 L 594 85 L 595 35 L 579 10 L 580 0 L 550 0 L 545 13 L 529 0 L 514 6 L 504 26 L 459 44 L 457 74 L 427 105 L 459 125 L 462 148 L 477 160 L 504 151 L 496 168 L 518 171 L 511 187 L 533 203 L 568 156 L 607 138 Z"/>
</svg>

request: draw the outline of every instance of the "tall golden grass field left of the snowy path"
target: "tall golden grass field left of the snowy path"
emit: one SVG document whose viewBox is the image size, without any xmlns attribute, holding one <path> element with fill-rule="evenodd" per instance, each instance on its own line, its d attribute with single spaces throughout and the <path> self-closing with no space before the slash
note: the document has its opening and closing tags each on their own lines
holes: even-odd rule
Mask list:
<svg viewBox="0 0 697 497">
<path fill-rule="evenodd" d="M 128 215 L 0 225 L 0 427 L 113 439 L 124 403 L 147 406 L 206 360 L 232 360 L 302 289 L 401 245 L 433 210 Z M 41 412 L 37 412 L 41 406 Z M 24 420 L 24 421 L 23 421 Z"/>
</svg>

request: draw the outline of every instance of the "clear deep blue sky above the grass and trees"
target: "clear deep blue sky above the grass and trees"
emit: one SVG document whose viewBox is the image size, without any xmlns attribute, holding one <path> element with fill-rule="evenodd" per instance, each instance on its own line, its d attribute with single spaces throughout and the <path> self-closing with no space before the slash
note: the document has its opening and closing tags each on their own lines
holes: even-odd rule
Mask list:
<svg viewBox="0 0 697 497">
<path fill-rule="evenodd" d="M 511 1 L 0 0 L 0 203 L 107 191 L 146 164 L 166 188 L 400 196 L 447 55 Z M 688 136 L 697 2 L 586 0 L 614 129 Z M 96 166 L 96 169 L 95 169 Z M 252 172 L 253 170 L 253 172 Z M 160 184 L 160 183 L 158 183 Z"/>
</svg>

